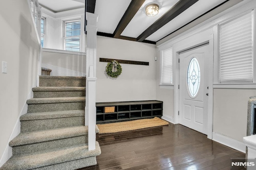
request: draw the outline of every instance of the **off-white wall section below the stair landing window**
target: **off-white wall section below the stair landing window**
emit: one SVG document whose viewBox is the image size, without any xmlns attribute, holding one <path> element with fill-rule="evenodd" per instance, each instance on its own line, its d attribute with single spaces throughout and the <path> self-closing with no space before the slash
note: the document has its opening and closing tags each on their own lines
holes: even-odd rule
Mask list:
<svg viewBox="0 0 256 170">
<path fill-rule="evenodd" d="M 51 76 L 86 76 L 85 53 L 43 49 L 42 67 L 52 69 Z"/>
</svg>

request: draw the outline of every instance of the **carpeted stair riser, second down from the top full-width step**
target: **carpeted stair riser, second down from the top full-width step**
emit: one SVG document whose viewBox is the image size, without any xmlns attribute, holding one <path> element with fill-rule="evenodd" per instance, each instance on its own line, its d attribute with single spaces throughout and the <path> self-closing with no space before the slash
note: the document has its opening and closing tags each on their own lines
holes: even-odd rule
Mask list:
<svg viewBox="0 0 256 170">
<path fill-rule="evenodd" d="M 83 97 L 85 91 L 34 92 L 34 98 Z"/>
</svg>

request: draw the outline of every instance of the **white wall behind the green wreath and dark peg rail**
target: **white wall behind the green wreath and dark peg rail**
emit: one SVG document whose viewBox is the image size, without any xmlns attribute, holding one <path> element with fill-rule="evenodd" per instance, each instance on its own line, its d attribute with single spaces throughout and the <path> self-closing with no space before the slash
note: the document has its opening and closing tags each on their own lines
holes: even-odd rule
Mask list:
<svg viewBox="0 0 256 170">
<path fill-rule="evenodd" d="M 156 46 L 97 36 L 96 102 L 156 100 Z M 111 78 L 99 58 L 149 62 L 149 66 L 121 64 L 122 73 Z"/>
</svg>

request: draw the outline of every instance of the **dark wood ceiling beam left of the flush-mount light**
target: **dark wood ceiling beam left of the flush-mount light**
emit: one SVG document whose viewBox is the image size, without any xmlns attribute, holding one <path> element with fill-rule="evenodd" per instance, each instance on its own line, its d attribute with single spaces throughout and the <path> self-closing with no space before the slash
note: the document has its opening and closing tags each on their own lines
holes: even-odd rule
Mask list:
<svg viewBox="0 0 256 170">
<path fill-rule="evenodd" d="M 114 31 L 114 38 L 119 38 L 121 33 L 124 31 L 128 23 L 132 20 L 134 15 L 138 12 L 145 0 L 132 0 L 128 6 L 126 12 L 119 21 L 116 30 Z"/>
</svg>

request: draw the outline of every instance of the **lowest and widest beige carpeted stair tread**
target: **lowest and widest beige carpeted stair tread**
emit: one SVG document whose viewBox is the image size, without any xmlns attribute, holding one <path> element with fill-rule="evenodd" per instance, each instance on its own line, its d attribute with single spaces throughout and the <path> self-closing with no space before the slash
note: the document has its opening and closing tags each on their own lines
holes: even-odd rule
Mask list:
<svg viewBox="0 0 256 170">
<path fill-rule="evenodd" d="M 80 144 L 34 154 L 14 155 L 1 167 L 1 170 L 27 170 L 98 156 L 101 154 L 100 146 L 97 141 L 95 145 L 95 150 L 88 150 L 88 144 Z"/>
</svg>

